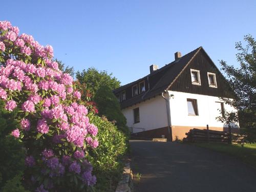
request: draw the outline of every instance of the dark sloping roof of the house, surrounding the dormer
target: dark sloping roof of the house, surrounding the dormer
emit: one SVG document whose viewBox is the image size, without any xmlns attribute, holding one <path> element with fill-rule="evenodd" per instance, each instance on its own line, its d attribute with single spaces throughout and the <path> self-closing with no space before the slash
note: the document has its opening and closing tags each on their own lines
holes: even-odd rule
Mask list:
<svg viewBox="0 0 256 192">
<path fill-rule="evenodd" d="M 142 77 L 136 81 L 133 81 L 131 83 L 125 84 L 124 86 L 113 90 L 113 93 L 119 93 L 123 90 L 125 90 L 127 87 L 132 86 L 136 82 L 140 82 L 141 80 L 145 78 L 151 78 L 154 77 L 157 73 L 163 72 L 163 75 L 159 78 L 157 83 L 153 88 L 145 92 L 144 94 L 137 95 L 131 99 L 127 99 L 125 101 L 122 101 L 120 103 L 121 108 L 126 108 L 127 106 L 131 106 L 133 104 L 139 103 L 141 101 L 144 101 L 146 99 L 150 99 L 156 95 L 161 94 L 164 90 L 166 90 L 170 84 L 172 84 L 176 78 L 181 74 L 181 72 L 185 69 L 185 67 L 188 65 L 190 60 L 192 60 L 195 55 L 199 52 L 199 50 L 202 49 L 202 47 L 199 47 L 195 49 L 194 51 L 191 51 L 190 53 L 180 57 L 179 59 L 165 65 L 164 67 L 156 70 L 155 72 L 146 75 L 145 77 Z"/>
</svg>

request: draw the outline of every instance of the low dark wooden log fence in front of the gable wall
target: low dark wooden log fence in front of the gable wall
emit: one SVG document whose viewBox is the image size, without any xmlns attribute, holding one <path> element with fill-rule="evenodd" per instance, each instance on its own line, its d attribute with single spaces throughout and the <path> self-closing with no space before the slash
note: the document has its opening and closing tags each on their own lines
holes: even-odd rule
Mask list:
<svg viewBox="0 0 256 192">
<path fill-rule="evenodd" d="M 209 130 L 209 127 L 207 125 L 207 129 L 205 130 L 191 129 L 188 133 L 186 133 L 187 137 L 184 138 L 184 141 L 231 143 L 231 127 L 229 127 L 228 130 L 228 132 Z"/>
</svg>

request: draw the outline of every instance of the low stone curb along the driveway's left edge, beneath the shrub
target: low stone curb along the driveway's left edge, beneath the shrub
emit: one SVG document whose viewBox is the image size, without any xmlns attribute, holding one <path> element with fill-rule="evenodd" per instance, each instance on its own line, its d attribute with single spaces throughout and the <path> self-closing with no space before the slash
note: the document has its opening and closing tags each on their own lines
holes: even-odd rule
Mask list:
<svg viewBox="0 0 256 192">
<path fill-rule="evenodd" d="M 130 163 L 126 163 L 123 167 L 123 175 L 119 181 L 116 192 L 132 192 L 133 191 L 133 172 Z"/>
</svg>

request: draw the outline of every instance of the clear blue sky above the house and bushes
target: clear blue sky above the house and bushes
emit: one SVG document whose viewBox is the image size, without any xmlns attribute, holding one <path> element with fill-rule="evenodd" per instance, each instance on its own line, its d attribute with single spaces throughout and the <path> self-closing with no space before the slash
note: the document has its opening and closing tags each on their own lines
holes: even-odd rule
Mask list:
<svg viewBox="0 0 256 192">
<path fill-rule="evenodd" d="M 9 20 L 54 56 L 81 71 L 112 72 L 122 84 L 137 80 L 152 64 L 163 67 L 202 46 L 218 60 L 238 66 L 234 48 L 256 37 L 256 1 L 5 1 Z"/>
</svg>

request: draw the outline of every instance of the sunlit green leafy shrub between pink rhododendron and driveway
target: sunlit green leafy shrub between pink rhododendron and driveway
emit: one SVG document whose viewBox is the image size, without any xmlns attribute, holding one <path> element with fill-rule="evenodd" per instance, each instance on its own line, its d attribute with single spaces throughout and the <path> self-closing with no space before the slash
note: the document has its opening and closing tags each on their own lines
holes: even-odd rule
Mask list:
<svg viewBox="0 0 256 192">
<path fill-rule="evenodd" d="M 126 151 L 126 137 L 118 131 L 114 123 L 91 115 L 91 123 L 98 127 L 99 146 L 91 151 L 91 163 L 94 174 L 97 176 L 97 191 L 114 191 L 115 186 L 122 174 L 122 156 Z"/>
</svg>

